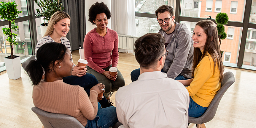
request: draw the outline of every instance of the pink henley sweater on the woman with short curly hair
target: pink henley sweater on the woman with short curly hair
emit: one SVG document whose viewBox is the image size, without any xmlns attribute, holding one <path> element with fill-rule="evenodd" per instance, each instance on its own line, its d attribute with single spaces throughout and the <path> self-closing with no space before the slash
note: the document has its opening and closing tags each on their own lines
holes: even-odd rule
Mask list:
<svg viewBox="0 0 256 128">
<path fill-rule="evenodd" d="M 85 35 L 84 52 L 87 65 L 98 73 L 103 73 L 105 71 L 103 69 L 111 64 L 112 67 L 117 67 L 119 56 L 117 32 L 107 28 L 106 35 L 102 37 L 95 28 L 92 29 Z"/>
</svg>

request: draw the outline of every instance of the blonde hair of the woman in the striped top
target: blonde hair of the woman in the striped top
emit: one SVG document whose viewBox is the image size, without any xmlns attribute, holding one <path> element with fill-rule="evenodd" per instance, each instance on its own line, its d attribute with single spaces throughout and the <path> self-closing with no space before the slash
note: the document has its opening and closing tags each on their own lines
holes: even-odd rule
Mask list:
<svg viewBox="0 0 256 128">
<path fill-rule="evenodd" d="M 67 13 L 65 13 L 65 12 L 61 12 L 61 11 L 55 12 L 55 13 L 52 15 L 52 17 L 51 17 L 51 19 L 50 19 L 50 21 L 49 21 L 49 23 L 48 23 L 48 27 L 47 27 L 46 32 L 44 33 L 44 36 L 43 36 L 43 37 L 52 34 L 54 24 L 56 24 L 57 22 L 59 22 L 59 21 L 62 20 L 62 19 L 66 19 L 66 18 L 69 18 L 69 20 L 70 20 L 69 14 L 67 14 Z"/>
</svg>

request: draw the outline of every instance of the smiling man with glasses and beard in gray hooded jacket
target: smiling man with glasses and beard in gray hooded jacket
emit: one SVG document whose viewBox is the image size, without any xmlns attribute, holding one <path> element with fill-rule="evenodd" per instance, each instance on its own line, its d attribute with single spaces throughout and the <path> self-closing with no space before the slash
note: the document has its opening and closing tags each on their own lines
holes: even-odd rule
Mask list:
<svg viewBox="0 0 256 128">
<path fill-rule="evenodd" d="M 193 40 L 190 31 L 185 24 L 174 22 L 175 16 L 171 6 L 160 6 L 155 15 L 161 27 L 158 33 L 165 38 L 165 47 L 169 51 L 162 72 L 175 80 L 190 79 L 193 61 Z M 139 75 L 139 69 L 133 70 L 132 81 L 136 81 Z"/>
</svg>

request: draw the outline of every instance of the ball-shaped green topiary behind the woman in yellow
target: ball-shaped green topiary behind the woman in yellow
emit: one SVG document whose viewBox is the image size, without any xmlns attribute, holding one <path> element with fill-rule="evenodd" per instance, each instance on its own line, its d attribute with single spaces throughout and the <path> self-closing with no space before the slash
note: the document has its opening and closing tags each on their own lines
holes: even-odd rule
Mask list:
<svg viewBox="0 0 256 128">
<path fill-rule="evenodd" d="M 218 30 L 218 35 L 219 35 L 219 42 L 221 45 L 221 40 L 226 39 L 227 34 L 225 32 L 225 24 L 228 24 L 228 14 L 224 12 L 220 12 L 216 15 L 215 22 L 217 23 L 217 30 Z M 219 45 L 219 46 L 220 46 Z M 223 51 L 220 50 L 220 54 L 222 56 Z"/>
</svg>

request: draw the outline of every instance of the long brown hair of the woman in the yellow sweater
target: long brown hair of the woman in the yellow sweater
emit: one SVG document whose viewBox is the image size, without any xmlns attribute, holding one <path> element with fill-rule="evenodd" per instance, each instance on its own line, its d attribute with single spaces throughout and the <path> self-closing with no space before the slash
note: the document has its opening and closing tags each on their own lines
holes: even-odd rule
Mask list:
<svg viewBox="0 0 256 128">
<path fill-rule="evenodd" d="M 220 70 L 220 81 L 222 81 L 223 73 L 224 73 L 224 66 L 222 63 L 222 58 L 220 55 L 220 47 L 218 42 L 218 31 L 217 27 L 211 20 L 202 20 L 196 23 L 195 26 L 200 26 L 204 33 L 206 34 L 206 42 L 203 48 L 203 54 L 200 51 L 199 48 L 194 48 L 194 59 L 193 59 L 193 73 L 192 76 L 194 76 L 195 68 L 198 65 L 198 63 L 201 61 L 201 59 L 206 56 L 206 52 L 208 52 L 214 63 L 213 67 L 213 74 L 215 73 L 215 67 L 218 66 L 218 69 Z"/>
</svg>

